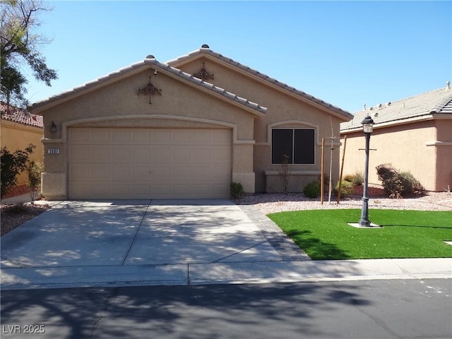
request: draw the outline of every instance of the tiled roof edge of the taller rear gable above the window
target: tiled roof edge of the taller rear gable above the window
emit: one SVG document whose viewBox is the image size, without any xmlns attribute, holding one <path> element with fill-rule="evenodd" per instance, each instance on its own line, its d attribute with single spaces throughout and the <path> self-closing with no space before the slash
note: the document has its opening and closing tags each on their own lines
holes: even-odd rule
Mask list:
<svg viewBox="0 0 452 339">
<path fill-rule="evenodd" d="M 177 59 L 172 59 L 166 62 L 166 64 L 169 65 L 174 65 L 174 64 L 178 64 L 182 61 L 186 61 L 191 59 L 192 57 L 196 57 L 197 55 L 202 55 L 202 54 L 208 54 L 211 57 L 214 57 L 216 59 L 219 59 L 221 61 L 226 62 L 227 64 L 230 64 L 232 66 L 237 67 L 238 69 L 242 69 L 242 71 L 246 71 L 247 73 L 253 75 L 253 76 L 257 76 L 258 78 L 263 79 L 264 81 L 268 81 L 269 83 L 272 83 L 273 85 L 277 85 L 280 88 L 283 88 L 284 90 L 289 91 L 290 93 L 293 93 L 295 95 L 298 95 L 299 97 L 304 97 L 307 100 L 311 100 L 312 102 L 316 102 L 317 104 L 327 108 L 327 109 L 331 109 L 334 112 L 342 115 L 343 117 L 345 117 L 346 119 L 352 119 L 352 114 L 350 114 L 350 112 L 347 112 L 343 109 L 340 109 L 339 107 L 333 106 L 331 104 L 329 104 L 328 102 L 325 102 L 323 100 L 320 100 L 317 97 L 314 97 L 313 95 L 307 94 L 302 92 L 301 90 L 297 90 L 297 88 L 294 88 L 290 85 L 287 85 L 286 83 L 282 83 L 278 80 L 276 80 L 275 78 L 271 78 L 270 76 L 267 76 L 266 74 L 263 74 L 259 71 L 256 71 L 255 69 L 251 69 L 249 66 L 245 66 L 243 64 L 240 64 L 239 62 L 230 59 L 228 57 L 224 57 L 222 54 L 217 53 L 217 52 L 213 52 L 207 45 L 203 45 L 203 47 L 201 47 L 200 49 L 196 49 L 193 52 L 190 52 L 189 54 L 185 54 L 182 57 L 178 57 Z"/>
</svg>

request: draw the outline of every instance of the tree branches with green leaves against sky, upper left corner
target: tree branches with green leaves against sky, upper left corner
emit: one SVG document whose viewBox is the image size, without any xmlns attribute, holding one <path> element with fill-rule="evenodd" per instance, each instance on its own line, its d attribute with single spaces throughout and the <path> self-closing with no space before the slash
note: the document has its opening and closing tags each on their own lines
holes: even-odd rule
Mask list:
<svg viewBox="0 0 452 339">
<path fill-rule="evenodd" d="M 40 44 L 49 43 L 49 40 L 36 32 L 40 26 L 37 16 L 49 10 L 37 0 L 0 1 L 1 100 L 8 107 L 10 104 L 18 107 L 28 105 L 24 64 L 30 67 L 38 81 L 46 85 L 57 79 L 57 72 L 47 67 L 39 50 Z"/>
</svg>

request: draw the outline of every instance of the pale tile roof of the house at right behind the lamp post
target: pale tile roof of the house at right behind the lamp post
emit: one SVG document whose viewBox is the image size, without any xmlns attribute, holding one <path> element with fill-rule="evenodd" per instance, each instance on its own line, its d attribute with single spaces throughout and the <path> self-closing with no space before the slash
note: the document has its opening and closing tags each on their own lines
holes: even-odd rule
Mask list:
<svg viewBox="0 0 452 339">
<path fill-rule="evenodd" d="M 375 127 L 379 124 L 400 124 L 407 119 L 435 114 L 452 114 L 452 88 L 444 87 L 427 93 L 386 102 L 356 112 L 352 120 L 340 124 L 340 131 L 361 128 L 361 121 L 370 115 Z"/>
</svg>

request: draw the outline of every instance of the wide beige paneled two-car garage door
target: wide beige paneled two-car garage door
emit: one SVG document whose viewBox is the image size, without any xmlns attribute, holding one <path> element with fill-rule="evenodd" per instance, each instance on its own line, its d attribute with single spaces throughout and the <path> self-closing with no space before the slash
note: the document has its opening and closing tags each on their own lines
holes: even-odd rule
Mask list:
<svg viewBox="0 0 452 339">
<path fill-rule="evenodd" d="M 69 198 L 227 198 L 232 131 L 68 131 Z"/>
</svg>

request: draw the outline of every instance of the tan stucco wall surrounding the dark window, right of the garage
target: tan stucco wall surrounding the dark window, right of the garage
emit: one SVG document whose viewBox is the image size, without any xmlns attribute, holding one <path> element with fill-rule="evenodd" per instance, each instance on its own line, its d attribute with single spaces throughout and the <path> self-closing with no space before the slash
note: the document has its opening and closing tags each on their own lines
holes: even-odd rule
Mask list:
<svg viewBox="0 0 452 339">
<path fill-rule="evenodd" d="M 221 88 L 232 89 L 232 91 L 246 99 L 257 102 L 267 107 L 264 117 L 258 117 L 254 121 L 254 172 L 256 174 L 256 191 L 282 191 L 282 185 L 278 175 L 280 165 L 270 163 L 270 128 L 314 128 L 316 130 L 316 161 L 314 165 L 290 165 L 290 191 L 302 191 L 304 186 L 313 179 L 317 179 L 321 172 L 321 140 L 332 135 L 338 137 L 334 143 L 333 150 L 333 181 L 337 182 L 339 177 L 339 119 L 326 112 L 326 109 L 316 107 L 296 95 L 269 85 L 267 81 L 257 79 L 243 73 L 237 72 L 232 66 L 220 61 L 201 57 L 193 61 L 176 65 L 187 73 L 196 73 L 202 67 L 209 73 L 214 74 L 214 79 L 208 81 Z M 329 139 L 331 140 L 331 139 Z M 326 149 L 325 172 L 329 174 L 331 141 Z M 267 173 L 267 175 L 266 175 Z"/>
</svg>

